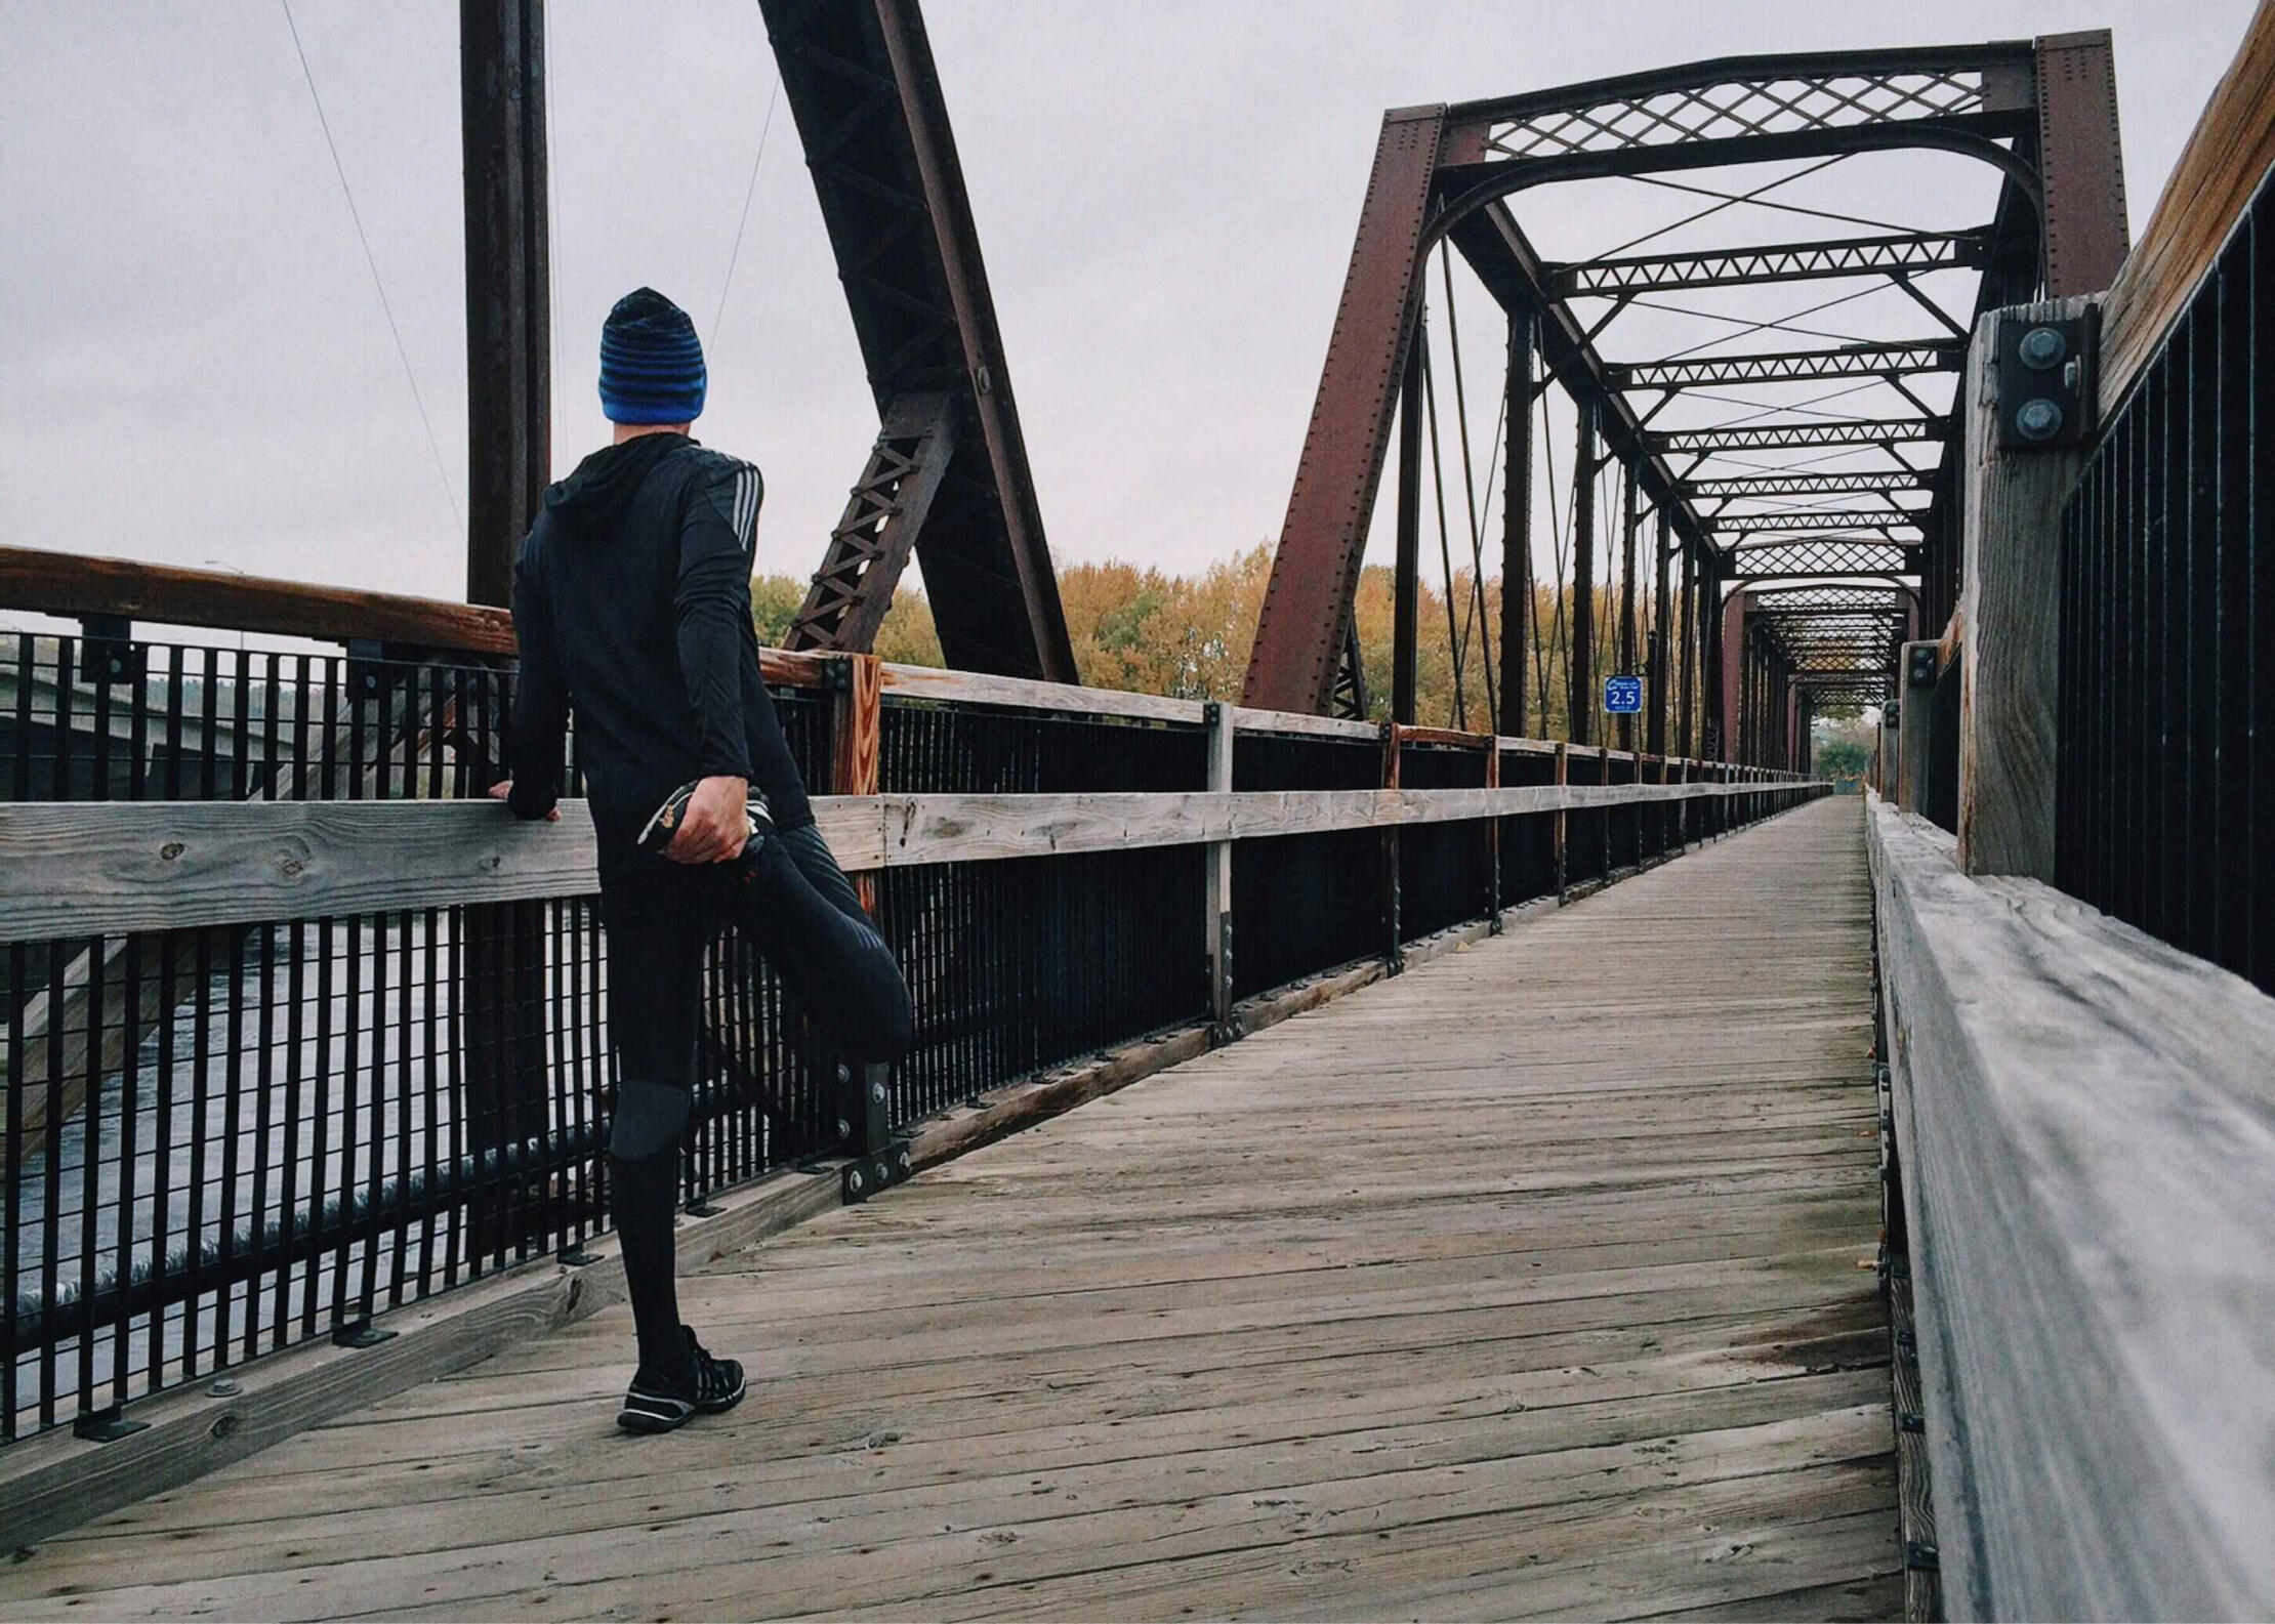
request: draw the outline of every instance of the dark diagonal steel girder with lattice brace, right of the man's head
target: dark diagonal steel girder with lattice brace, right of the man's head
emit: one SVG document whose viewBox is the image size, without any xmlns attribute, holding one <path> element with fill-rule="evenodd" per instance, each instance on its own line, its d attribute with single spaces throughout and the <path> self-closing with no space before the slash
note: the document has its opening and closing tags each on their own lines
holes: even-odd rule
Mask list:
<svg viewBox="0 0 2275 1624">
<path fill-rule="evenodd" d="M 869 648 L 915 553 L 951 666 L 1074 682 L 917 0 L 760 0 L 760 11 L 883 423 L 789 644 Z"/>
</svg>

